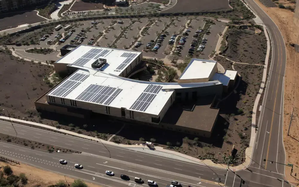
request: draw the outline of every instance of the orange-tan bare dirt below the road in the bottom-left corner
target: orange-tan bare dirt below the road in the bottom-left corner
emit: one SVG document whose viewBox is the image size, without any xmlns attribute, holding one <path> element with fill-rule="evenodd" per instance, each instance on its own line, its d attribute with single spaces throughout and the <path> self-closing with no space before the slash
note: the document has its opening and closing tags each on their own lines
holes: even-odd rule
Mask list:
<svg viewBox="0 0 299 187">
<path fill-rule="evenodd" d="M 39 187 L 49 187 L 51 185 L 55 184 L 67 184 L 64 182 L 65 180 L 68 181 L 68 183 L 73 183 L 74 179 L 60 175 L 54 172 L 50 172 L 47 170 L 42 170 L 39 168 L 34 168 L 30 165 L 26 165 L 21 163 L 21 165 L 13 165 L 10 164 L 10 162 L 2 161 L 0 160 L 0 166 L 1 168 L 4 168 L 5 166 L 7 167 L 10 166 L 12 169 L 13 173 L 10 175 L 15 175 L 15 176 L 22 176 L 22 173 L 25 174 L 25 177 L 27 178 L 27 181 L 25 183 L 25 187 L 33 187 L 33 186 L 39 186 Z M 2 171 L 1 171 L 2 172 Z M 24 175 L 22 176 L 22 178 Z M 25 178 L 24 177 L 24 178 Z M 6 176 L 5 176 L 6 178 Z M 62 182 L 61 182 L 62 181 Z M 3 182 L 3 180 L 1 180 Z M 97 185 L 91 184 L 91 183 L 86 183 L 89 187 L 99 187 Z"/>
</svg>

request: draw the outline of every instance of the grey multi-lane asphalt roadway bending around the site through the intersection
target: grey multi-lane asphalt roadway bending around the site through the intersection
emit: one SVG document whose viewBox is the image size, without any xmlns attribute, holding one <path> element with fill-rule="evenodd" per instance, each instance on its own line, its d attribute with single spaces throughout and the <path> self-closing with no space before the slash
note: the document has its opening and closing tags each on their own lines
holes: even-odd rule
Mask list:
<svg viewBox="0 0 299 187">
<path fill-rule="evenodd" d="M 0 155 L 28 163 L 39 168 L 51 170 L 71 177 L 78 177 L 103 186 L 147 186 L 137 184 L 132 179 L 141 177 L 154 180 L 159 186 L 166 186 L 171 180 L 180 181 L 183 186 L 291 186 L 285 180 L 285 152 L 283 147 L 283 87 L 286 68 L 286 50 L 283 37 L 269 16 L 253 1 L 246 3 L 263 20 L 272 42 L 272 62 L 266 91 L 263 98 L 262 111 L 258 123 L 254 152 L 251 164 L 242 171 L 231 171 L 208 167 L 187 160 L 144 153 L 118 146 L 106 145 L 44 131 L 23 125 L 14 125 L 18 136 L 45 142 L 52 145 L 82 151 L 83 154 L 48 153 L 31 150 L 17 145 L 0 143 Z M 15 135 L 8 122 L 0 122 L 2 133 Z M 110 155 L 111 155 L 111 158 Z M 91 156 L 86 154 L 93 154 Z M 59 159 L 68 161 L 61 165 Z M 269 161 L 263 161 L 264 159 Z M 274 161 L 274 163 L 270 163 Z M 83 165 L 83 169 L 74 168 L 74 163 Z M 114 177 L 105 175 L 106 170 L 115 172 Z M 130 176 L 130 181 L 119 178 L 120 174 Z M 221 178 L 221 181 L 219 181 Z M 219 184 L 218 184 L 219 183 Z"/>
</svg>

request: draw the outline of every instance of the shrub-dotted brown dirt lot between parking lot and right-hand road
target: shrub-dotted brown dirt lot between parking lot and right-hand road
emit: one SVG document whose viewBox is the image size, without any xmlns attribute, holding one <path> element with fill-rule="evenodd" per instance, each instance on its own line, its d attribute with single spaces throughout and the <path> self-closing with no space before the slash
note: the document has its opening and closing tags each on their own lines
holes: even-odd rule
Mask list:
<svg viewBox="0 0 299 187">
<path fill-rule="evenodd" d="M 236 62 L 265 63 L 267 40 L 264 32 L 256 34 L 254 30 L 232 27 L 225 33 L 224 38 L 226 35 L 228 35 L 228 49 L 223 56 Z"/>
</svg>

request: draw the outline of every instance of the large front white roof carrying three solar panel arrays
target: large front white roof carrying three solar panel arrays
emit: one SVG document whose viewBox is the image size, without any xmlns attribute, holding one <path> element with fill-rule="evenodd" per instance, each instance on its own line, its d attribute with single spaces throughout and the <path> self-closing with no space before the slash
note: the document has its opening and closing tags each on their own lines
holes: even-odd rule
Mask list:
<svg viewBox="0 0 299 187">
<path fill-rule="evenodd" d="M 68 82 L 75 82 L 76 86 L 73 87 L 66 85 Z M 101 86 L 103 86 L 102 89 L 100 89 Z M 64 80 L 64 82 L 54 88 L 48 95 L 159 115 L 160 111 L 173 93 L 173 90 L 162 90 L 163 86 L 163 84 L 152 84 L 151 82 L 144 83 L 123 79 L 121 77 L 108 75 L 101 71 L 98 71 L 95 74 L 90 74 L 86 70 L 79 69 L 68 77 L 68 79 Z M 68 93 L 61 87 L 74 89 Z M 104 88 L 108 91 L 108 93 L 106 92 L 100 95 Z M 96 91 L 96 89 L 98 90 Z M 109 89 L 112 91 L 111 93 L 109 93 Z M 62 91 L 59 92 L 59 90 Z M 115 94 L 116 92 L 119 93 Z M 105 97 L 105 95 L 107 96 Z M 103 96 L 102 103 L 100 103 L 99 100 L 101 96 Z M 113 97 L 112 102 L 109 103 L 111 96 L 115 97 Z"/>
</svg>

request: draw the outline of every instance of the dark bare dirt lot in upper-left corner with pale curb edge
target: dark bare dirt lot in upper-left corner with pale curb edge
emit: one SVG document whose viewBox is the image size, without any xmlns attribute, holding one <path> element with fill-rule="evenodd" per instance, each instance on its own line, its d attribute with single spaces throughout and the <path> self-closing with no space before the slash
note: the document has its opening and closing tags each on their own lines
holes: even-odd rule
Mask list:
<svg viewBox="0 0 299 187">
<path fill-rule="evenodd" d="M 36 11 L 9 13 L 0 15 L 0 30 L 16 28 L 22 24 L 33 24 L 46 21 L 46 19 L 37 16 Z"/>
</svg>

